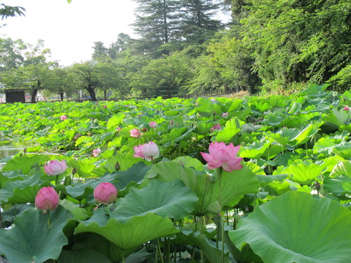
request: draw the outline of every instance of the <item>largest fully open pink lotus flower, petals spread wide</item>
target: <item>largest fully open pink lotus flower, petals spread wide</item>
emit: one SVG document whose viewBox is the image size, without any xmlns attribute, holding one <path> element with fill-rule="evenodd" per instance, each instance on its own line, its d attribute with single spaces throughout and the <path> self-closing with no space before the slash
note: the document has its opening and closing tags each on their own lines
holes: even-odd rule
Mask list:
<svg viewBox="0 0 351 263">
<path fill-rule="evenodd" d="M 240 164 L 242 158 L 237 157 L 239 149 L 240 145 L 234 147 L 232 143 L 225 145 L 224 142 L 211 142 L 208 147 L 209 154 L 201 152 L 201 156 L 211 169 L 222 167 L 231 172 L 242 168 Z"/>
</svg>

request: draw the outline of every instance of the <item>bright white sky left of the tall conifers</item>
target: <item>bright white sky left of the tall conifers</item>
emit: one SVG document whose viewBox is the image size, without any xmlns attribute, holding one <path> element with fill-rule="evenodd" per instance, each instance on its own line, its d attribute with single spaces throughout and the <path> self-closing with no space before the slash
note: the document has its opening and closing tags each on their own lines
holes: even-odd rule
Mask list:
<svg viewBox="0 0 351 263">
<path fill-rule="evenodd" d="M 105 47 L 117 40 L 119 33 L 135 36 L 133 0 L 1 0 L 7 6 L 22 6 L 25 16 L 0 20 L 0 37 L 37 43 L 43 39 L 51 58 L 60 65 L 72 65 L 91 59 L 94 42 Z"/>
</svg>

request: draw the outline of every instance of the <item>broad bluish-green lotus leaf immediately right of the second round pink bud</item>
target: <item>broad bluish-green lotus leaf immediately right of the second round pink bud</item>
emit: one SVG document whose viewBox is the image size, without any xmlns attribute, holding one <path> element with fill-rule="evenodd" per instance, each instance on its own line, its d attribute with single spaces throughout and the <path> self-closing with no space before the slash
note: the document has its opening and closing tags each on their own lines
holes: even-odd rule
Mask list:
<svg viewBox="0 0 351 263">
<path fill-rule="evenodd" d="M 161 217 L 180 220 L 194 210 L 198 199 L 194 191 L 181 180 L 151 180 L 143 189 L 131 188 L 129 194 L 117 201 L 110 217 L 127 222 L 135 215 L 156 213 Z"/>
</svg>

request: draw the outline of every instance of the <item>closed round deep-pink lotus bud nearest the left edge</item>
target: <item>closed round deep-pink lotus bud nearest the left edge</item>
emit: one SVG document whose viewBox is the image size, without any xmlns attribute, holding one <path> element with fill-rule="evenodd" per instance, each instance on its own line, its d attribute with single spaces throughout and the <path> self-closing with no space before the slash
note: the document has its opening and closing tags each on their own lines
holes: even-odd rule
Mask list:
<svg viewBox="0 0 351 263">
<path fill-rule="evenodd" d="M 39 210 L 55 210 L 58 207 L 60 197 L 53 187 L 43 187 L 35 196 L 35 206 Z"/>
</svg>

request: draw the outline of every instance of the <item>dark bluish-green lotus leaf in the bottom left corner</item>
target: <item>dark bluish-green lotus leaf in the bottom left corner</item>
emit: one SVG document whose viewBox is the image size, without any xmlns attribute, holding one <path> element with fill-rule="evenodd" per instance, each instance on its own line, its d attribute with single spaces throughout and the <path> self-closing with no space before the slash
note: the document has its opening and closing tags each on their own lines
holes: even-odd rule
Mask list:
<svg viewBox="0 0 351 263">
<path fill-rule="evenodd" d="M 41 263 L 47 259 L 57 259 L 62 246 L 68 243 L 62 233 L 72 214 L 61 205 L 50 211 L 51 228 L 48 218 L 40 210 L 26 210 L 15 219 L 15 226 L 0 229 L 0 254 L 11 263 Z"/>
</svg>

